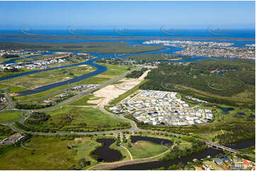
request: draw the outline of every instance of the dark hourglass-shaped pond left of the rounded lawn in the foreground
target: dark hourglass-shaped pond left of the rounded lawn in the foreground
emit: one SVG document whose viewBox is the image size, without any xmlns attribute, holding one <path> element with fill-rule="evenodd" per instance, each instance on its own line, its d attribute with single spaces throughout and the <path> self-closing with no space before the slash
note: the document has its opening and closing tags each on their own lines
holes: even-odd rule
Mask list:
<svg viewBox="0 0 256 171">
<path fill-rule="evenodd" d="M 98 162 L 115 162 L 123 158 L 119 151 L 109 148 L 109 146 L 116 141 L 115 139 L 99 138 L 96 141 L 102 144 L 102 146 L 92 152 L 92 155 L 96 156 Z"/>
</svg>

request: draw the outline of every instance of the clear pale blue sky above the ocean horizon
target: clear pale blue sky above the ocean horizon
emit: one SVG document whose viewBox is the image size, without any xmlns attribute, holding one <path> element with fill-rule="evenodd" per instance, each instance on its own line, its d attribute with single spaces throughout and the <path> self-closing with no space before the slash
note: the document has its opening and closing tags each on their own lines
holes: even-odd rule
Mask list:
<svg viewBox="0 0 256 171">
<path fill-rule="evenodd" d="M 0 28 L 255 28 L 255 1 L 0 1 Z"/>
</svg>

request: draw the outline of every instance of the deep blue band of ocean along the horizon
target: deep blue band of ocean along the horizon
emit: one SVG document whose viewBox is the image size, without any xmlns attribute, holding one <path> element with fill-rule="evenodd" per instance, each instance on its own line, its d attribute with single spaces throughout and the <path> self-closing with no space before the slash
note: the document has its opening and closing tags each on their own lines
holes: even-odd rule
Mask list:
<svg viewBox="0 0 256 171">
<path fill-rule="evenodd" d="M 72 28 L 62 30 L 21 28 L 16 30 L 0 30 L 0 34 L 18 35 L 85 35 L 85 36 L 123 36 L 123 37 L 212 37 L 212 38 L 244 38 L 255 39 L 255 29 L 155 29 L 155 30 L 132 30 L 124 28 L 113 29 L 86 29 Z"/>
</svg>

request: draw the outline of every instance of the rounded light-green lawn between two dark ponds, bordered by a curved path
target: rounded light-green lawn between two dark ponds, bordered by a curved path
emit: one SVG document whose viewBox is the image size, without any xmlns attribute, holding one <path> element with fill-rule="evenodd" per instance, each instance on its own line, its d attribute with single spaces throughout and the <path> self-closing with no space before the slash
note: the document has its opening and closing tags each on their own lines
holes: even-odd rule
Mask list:
<svg viewBox="0 0 256 171">
<path fill-rule="evenodd" d="M 167 151 L 166 148 L 149 141 L 137 141 L 136 143 L 131 144 L 131 148 L 128 146 L 126 146 L 126 148 L 128 148 L 128 151 L 133 155 L 133 158 L 150 158 Z"/>
</svg>

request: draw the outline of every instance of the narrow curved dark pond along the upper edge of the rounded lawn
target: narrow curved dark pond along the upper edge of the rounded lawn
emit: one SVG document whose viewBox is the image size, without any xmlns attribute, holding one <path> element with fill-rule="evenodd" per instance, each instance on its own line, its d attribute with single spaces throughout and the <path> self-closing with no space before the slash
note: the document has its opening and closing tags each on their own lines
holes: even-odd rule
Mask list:
<svg viewBox="0 0 256 171">
<path fill-rule="evenodd" d="M 172 141 L 165 138 L 155 138 L 149 136 L 130 136 L 130 142 L 136 143 L 137 141 L 150 141 L 165 146 L 172 146 Z"/>
</svg>

